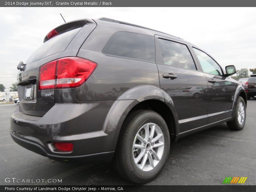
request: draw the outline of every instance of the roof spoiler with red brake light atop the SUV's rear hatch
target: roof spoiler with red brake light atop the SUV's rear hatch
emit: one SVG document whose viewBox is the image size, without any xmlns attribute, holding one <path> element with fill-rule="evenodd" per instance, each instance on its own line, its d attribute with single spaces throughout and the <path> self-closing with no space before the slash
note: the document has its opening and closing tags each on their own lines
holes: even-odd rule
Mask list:
<svg viewBox="0 0 256 192">
<path fill-rule="evenodd" d="M 68 23 L 65 23 L 63 25 L 60 25 L 59 27 L 56 27 L 52 29 L 45 37 L 44 42 L 48 41 L 52 37 L 59 35 L 61 33 L 65 33 L 67 31 L 70 31 L 72 29 L 80 28 L 86 25 L 87 23 L 91 23 L 91 21 L 88 20 L 75 20 Z"/>
</svg>

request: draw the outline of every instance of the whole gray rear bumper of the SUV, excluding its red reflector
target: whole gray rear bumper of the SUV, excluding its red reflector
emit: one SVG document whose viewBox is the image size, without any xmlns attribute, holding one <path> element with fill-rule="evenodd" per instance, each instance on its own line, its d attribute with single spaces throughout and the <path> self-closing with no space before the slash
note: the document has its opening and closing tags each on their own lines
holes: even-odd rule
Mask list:
<svg viewBox="0 0 256 192">
<path fill-rule="evenodd" d="M 43 117 L 29 116 L 21 107 L 11 116 L 10 133 L 20 146 L 57 161 L 109 162 L 116 140 L 116 127 L 106 129 L 106 118 L 114 102 L 93 101 L 55 104 Z M 120 101 L 119 104 L 121 104 Z M 118 119 L 118 117 L 117 117 Z M 58 152 L 53 142 L 71 142 L 72 152 Z"/>
</svg>

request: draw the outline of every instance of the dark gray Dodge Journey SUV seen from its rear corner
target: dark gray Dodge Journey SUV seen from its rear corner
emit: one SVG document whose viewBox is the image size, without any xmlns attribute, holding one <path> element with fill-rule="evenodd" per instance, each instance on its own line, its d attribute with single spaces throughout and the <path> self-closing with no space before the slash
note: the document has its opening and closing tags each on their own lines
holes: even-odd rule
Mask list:
<svg viewBox="0 0 256 192">
<path fill-rule="evenodd" d="M 65 23 L 17 68 L 15 142 L 57 161 L 113 160 L 134 183 L 156 177 L 178 138 L 245 124 L 234 66 L 224 71 L 199 47 L 130 23 Z"/>
</svg>

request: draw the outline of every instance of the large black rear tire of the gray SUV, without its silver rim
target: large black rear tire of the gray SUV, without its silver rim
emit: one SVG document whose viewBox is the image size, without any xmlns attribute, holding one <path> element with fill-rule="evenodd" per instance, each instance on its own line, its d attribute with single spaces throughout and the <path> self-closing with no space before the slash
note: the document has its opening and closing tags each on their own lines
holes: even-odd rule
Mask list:
<svg viewBox="0 0 256 192">
<path fill-rule="evenodd" d="M 132 150 L 133 141 L 137 132 L 147 123 L 154 123 L 160 127 L 164 137 L 164 149 L 162 158 L 158 164 L 150 171 L 142 171 L 136 166 L 133 160 L 134 152 Z M 116 172 L 124 179 L 133 183 L 147 183 L 153 180 L 162 171 L 169 156 L 169 150 L 170 135 L 162 116 L 150 110 L 135 110 L 126 117 L 119 134 L 114 157 Z"/>
</svg>

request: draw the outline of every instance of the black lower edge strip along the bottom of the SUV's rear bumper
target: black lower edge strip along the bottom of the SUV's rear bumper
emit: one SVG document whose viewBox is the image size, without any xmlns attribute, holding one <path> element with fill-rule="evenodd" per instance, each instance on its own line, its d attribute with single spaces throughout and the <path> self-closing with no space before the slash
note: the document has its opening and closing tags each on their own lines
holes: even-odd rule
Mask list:
<svg viewBox="0 0 256 192">
<path fill-rule="evenodd" d="M 81 162 L 84 164 L 95 163 L 95 162 L 110 162 L 114 156 L 115 151 L 87 154 L 87 155 L 78 155 L 78 156 L 65 156 L 62 155 L 53 155 L 47 153 L 47 151 L 39 144 L 22 139 L 21 136 L 15 132 L 10 132 L 12 139 L 19 144 L 20 146 L 31 150 L 39 155 L 49 157 L 52 160 L 60 162 Z"/>
</svg>

